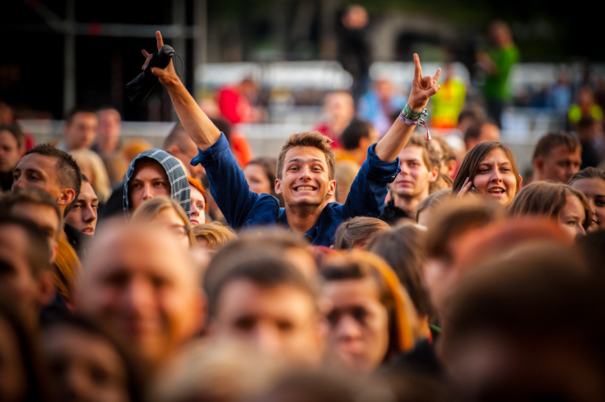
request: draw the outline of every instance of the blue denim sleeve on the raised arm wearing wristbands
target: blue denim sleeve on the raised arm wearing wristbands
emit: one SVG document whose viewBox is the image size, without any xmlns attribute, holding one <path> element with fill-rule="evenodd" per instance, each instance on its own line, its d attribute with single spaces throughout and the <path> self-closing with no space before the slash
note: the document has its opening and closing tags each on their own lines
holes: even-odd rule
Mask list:
<svg viewBox="0 0 605 402">
<path fill-rule="evenodd" d="M 374 152 L 373 144 L 368 148 L 368 157 L 361 165 L 351 185 L 347 200 L 342 205 L 343 219 L 355 216 L 378 218 L 384 209 L 384 200 L 389 192 L 389 183 L 401 171 L 399 158 L 381 161 Z"/>
</svg>

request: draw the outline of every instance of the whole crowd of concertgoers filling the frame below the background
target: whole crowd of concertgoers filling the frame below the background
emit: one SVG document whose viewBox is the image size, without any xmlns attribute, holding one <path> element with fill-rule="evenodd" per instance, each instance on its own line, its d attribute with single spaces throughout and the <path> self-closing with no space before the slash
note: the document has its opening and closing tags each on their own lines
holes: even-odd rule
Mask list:
<svg viewBox="0 0 605 402">
<path fill-rule="evenodd" d="M 604 401 L 603 122 L 522 177 L 486 114 L 425 123 L 414 65 L 389 127 L 339 92 L 275 158 L 172 63 L 162 148 L 111 107 L 0 125 L 0 400 Z"/>
</svg>

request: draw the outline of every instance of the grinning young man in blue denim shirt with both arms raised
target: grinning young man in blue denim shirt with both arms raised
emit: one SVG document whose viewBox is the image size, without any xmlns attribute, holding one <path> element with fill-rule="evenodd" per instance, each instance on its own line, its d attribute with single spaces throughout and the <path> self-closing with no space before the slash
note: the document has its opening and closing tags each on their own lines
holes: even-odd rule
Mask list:
<svg viewBox="0 0 605 402">
<path fill-rule="evenodd" d="M 156 33 L 158 49 L 164 44 Z M 148 57 L 148 52 L 143 51 Z M 196 143 L 198 155 L 191 164 L 202 164 L 210 180 L 214 200 L 228 224 L 234 228 L 253 225 L 283 224 L 296 234 L 307 236 L 314 245 L 333 244 L 336 227 L 353 216 L 380 216 L 387 185 L 399 173 L 398 155 L 407 143 L 418 121 L 420 111 L 439 89 L 436 76 L 422 76 L 420 60 L 414 55 L 414 80 L 406 111 L 380 141 L 368 148 L 368 157 L 351 186 L 344 204 L 326 203 L 335 191 L 334 155 L 330 139 L 322 134 L 293 134 L 280 152 L 275 191 L 282 194 L 285 207 L 269 194 L 257 195 L 248 189 L 244 173 L 233 157 L 221 131 L 201 110 L 182 84 L 172 63 L 166 69 L 152 72 L 167 89 L 185 130 Z"/>
</svg>

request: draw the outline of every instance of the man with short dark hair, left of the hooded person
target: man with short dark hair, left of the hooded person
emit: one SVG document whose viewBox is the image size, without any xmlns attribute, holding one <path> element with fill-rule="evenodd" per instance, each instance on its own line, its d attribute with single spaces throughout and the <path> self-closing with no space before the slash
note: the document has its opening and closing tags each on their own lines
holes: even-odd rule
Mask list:
<svg viewBox="0 0 605 402">
<path fill-rule="evenodd" d="M 56 200 L 65 217 L 80 195 L 81 175 L 80 167 L 69 153 L 42 143 L 25 152 L 19 160 L 13 171 L 12 191 L 24 187 L 42 189 Z M 81 256 L 84 235 L 67 223 L 63 225 L 63 231 L 71 247 Z"/>
</svg>

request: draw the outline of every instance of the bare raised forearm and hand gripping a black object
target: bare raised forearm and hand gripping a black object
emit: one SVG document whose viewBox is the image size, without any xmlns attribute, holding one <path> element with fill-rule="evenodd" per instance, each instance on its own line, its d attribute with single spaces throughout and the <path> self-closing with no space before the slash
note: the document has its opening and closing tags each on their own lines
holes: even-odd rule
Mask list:
<svg viewBox="0 0 605 402">
<path fill-rule="evenodd" d="M 155 40 L 157 41 L 157 49 L 164 46 L 164 40 L 162 40 L 162 34 L 159 30 L 155 32 Z M 146 50 L 143 50 L 143 55 L 147 58 L 145 62 L 147 64 L 150 55 Z M 151 72 L 160 79 L 160 83 L 167 89 L 180 123 L 187 130 L 189 137 L 196 146 L 201 150 L 212 146 L 221 137 L 221 132 L 201 110 L 194 97 L 189 94 L 185 85 L 176 75 L 172 61 L 165 69 L 153 67 Z"/>
</svg>

